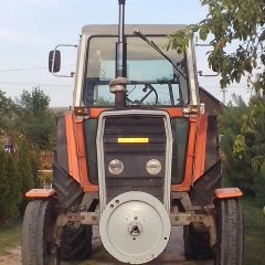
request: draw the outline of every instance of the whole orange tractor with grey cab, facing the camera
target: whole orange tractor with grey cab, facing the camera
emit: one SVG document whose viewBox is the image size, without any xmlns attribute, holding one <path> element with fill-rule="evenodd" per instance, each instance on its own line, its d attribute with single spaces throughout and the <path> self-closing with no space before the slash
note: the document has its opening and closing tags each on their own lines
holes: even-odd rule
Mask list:
<svg viewBox="0 0 265 265">
<path fill-rule="evenodd" d="M 242 265 L 237 188 L 222 188 L 216 116 L 199 98 L 192 39 L 165 49 L 186 25 L 85 25 L 77 49 L 73 106 L 56 119 L 51 189 L 26 192 L 22 264 L 86 259 L 98 226 L 106 251 L 145 264 L 183 226 L 188 258 Z M 60 75 L 61 52 L 49 68 Z M 63 96 L 62 96 L 63 97 Z"/>
</svg>

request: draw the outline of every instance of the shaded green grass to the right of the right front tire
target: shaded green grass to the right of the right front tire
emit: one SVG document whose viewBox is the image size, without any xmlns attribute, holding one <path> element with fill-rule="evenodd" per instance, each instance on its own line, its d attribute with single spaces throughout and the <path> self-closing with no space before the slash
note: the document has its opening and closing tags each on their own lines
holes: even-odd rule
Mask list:
<svg viewBox="0 0 265 265">
<path fill-rule="evenodd" d="M 243 200 L 244 265 L 264 265 L 265 215 L 253 200 Z"/>
</svg>

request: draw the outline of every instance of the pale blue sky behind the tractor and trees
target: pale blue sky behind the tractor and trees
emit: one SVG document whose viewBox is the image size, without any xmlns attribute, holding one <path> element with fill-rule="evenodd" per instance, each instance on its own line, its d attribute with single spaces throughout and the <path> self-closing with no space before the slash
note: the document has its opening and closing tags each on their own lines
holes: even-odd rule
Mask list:
<svg viewBox="0 0 265 265">
<path fill-rule="evenodd" d="M 126 0 L 128 24 L 191 24 L 203 20 L 206 8 L 199 0 Z M 57 44 L 77 44 L 85 24 L 118 22 L 118 0 L 0 0 L 0 89 L 19 97 L 40 86 L 52 107 L 72 105 L 74 78 L 55 77 L 47 71 L 49 51 Z M 197 49 L 198 71 L 208 68 L 206 49 Z M 62 53 L 64 74 L 75 71 L 76 50 Z M 223 102 L 216 77 L 199 77 L 200 85 Z M 245 84 L 226 89 L 250 97 Z"/>
</svg>

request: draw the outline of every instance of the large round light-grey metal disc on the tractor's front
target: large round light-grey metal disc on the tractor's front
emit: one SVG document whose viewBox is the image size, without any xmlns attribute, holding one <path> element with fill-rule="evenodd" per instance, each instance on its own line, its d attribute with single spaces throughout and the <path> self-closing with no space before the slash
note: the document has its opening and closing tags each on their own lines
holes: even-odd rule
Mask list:
<svg viewBox="0 0 265 265">
<path fill-rule="evenodd" d="M 99 234 L 118 261 L 142 264 L 167 246 L 171 232 L 163 204 L 145 192 L 126 192 L 113 199 L 102 214 Z"/>
</svg>

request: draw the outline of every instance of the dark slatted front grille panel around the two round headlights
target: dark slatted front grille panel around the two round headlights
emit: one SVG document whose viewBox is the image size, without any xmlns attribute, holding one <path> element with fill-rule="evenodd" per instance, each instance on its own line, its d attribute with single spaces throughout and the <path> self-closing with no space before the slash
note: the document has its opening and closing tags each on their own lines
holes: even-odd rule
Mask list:
<svg viewBox="0 0 265 265">
<path fill-rule="evenodd" d="M 118 138 L 148 138 L 148 144 L 118 144 Z M 163 117 L 153 115 L 106 116 L 103 135 L 107 202 L 127 191 L 148 192 L 163 199 L 166 165 L 166 129 Z M 162 169 L 151 176 L 146 170 L 150 159 L 158 159 Z M 124 171 L 114 176 L 108 163 L 119 159 Z"/>
</svg>

